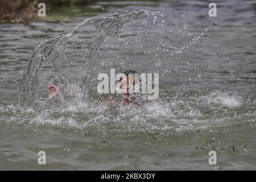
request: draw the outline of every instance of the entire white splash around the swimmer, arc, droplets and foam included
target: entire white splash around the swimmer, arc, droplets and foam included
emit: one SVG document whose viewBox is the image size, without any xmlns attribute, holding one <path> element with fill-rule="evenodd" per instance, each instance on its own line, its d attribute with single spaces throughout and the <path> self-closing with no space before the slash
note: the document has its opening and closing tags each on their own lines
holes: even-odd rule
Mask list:
<svg viewBox="0 0 256 182">
<path fill-rule="evenodd" d="M 220 116 L 231 117 L 226 114 L 227 109 L 243 103 L 236 93 L 214 91 L 203 95 L 186 87 L 170 93 L 170 87 L 162 85 L 159 100 L 118 109 L 109 108 L 106 104 L 109 98 L 97 94 L 97 73 L 110 68 L 159 72 L 163 79 L 166 73 L 183 75 L 186 69 L 177 72 L 166 66 L 173 61 L 170 57 L 182 59 L 189 54 L 191 46 L 196 46 L 210 27 L 196 35 L 188 31 L 184 16 L 181 18 L 181 23 L 167 22 L 162 13 L 143 10 L 104 14 L 85 19 L 71 32 L 40 43 L 19 87 L 20 106 L 39 112 L 31 116 L 30 124 L 68 126 L 89 133 L 100 131 L 101 135 L 131 131 L 180 133 L 205 129 Z M 122 34 L 125 28 L 129 34 Z M 175 34 L 173 40 L 166 36 L 167 30 Z M 48 63 L 53 67 L 47 67 Z M 45 67 L 48 73 L 40 74 Z M 199 80 L 204 82 L 201 75 L 196 78 Z M 63 86 L 64 96 L 49 99 L 44 91 L 49 83 Z M 213 117 L 210 122 L 209 115 Z"/>
</svg>

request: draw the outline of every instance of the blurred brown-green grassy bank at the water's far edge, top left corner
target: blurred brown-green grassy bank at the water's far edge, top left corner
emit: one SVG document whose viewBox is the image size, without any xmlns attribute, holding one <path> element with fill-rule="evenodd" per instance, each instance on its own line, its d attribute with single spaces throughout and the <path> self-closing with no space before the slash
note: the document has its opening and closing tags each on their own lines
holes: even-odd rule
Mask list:
<svg viewBox="0 0 256 182">
<path fill-rule="evenodd" d="M 59 6 L 88 5 L 96 0 L 1 0 L 0 23 L 22 23 L 37 16 L 40 2 L 46 3 L 47 11 Z"/>
</svg>

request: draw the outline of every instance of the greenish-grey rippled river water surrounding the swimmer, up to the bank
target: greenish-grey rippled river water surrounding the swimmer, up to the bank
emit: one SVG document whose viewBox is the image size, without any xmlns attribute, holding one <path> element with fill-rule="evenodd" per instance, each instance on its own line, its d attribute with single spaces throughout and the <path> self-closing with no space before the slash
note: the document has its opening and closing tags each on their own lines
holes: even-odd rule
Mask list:
<svg viewBox="0 0 256 182">
<path fill-rule="evenodd" d="M 256 169 L 255 2 L 215 3 L 217 17 L 204 1 L 98 1 L 0 24 L 0 169 Z M 159 73 L 159 98 L 110 107 L 110 69 Z"/>
</svg>

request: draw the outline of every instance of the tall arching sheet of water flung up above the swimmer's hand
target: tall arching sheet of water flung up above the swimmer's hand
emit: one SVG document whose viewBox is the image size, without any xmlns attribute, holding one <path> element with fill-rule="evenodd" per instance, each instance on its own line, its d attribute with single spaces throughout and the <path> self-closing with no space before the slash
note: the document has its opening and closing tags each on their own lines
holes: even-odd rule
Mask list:
<svg viewBox="0 0 256 182">
<path fill-rule="evenodd" d="M 67 34 L 62 33 L 57 35 L 53 39 L 48 39 L 40 43 L 35 49 L 30 58 L 28 69 L 24 74 L 23 80 L 19 86 L 19 98 L 20 104 L 23 106 L 32 105 L 38 94 L 38 83 L 39 83 L 39 71 L 47 63 L 52 63 L 57 71 L 62 73 L 65 77 L 65 84 L 74 81 L 72 77 L 72 69 L 65 65 L 67 57 L 65 57 L 65 49 L 67 48 L 67 42 L 71 38 L 75 38 L 73 35 L 77 28 L 85 26 L 86 23 L 93 23 L 96 33 L 93 39 L 86 42 L 88 45 L 84 49 L 84 57 L 82 60 L 76 60 L 77 62 L 82 61 L 84 65 L 79 70 L 76 70 L 76 75 L 80 75 L 79 80 L 82 80 L 83 86 L 88 88 L 88 78 L 93 77 L 96 73 L 96 69 L 100 67 L 100 55 L 99 50 L 102 42 L 108 36 L 116 36 L 118 31 L 123 27 L 125 23 L 131 23 L 136 20 L 146 19 L 154 13 L 148 11 L 134 11 L 128 14 L 106 14 L 94 16 L 93 18 L 85 19 L 83 22 L 77 24 L 73 30 Z M 88 55 L 89 52 L 89 55 Z M 79 73 L 77 73 L 77 71 Z M 83 74 L 85 73 L 86 76 Z M 86 77 L 86 78 L 85 78 Z M 87 81 L 86 81 L 87 80 Z"/>
</svg>

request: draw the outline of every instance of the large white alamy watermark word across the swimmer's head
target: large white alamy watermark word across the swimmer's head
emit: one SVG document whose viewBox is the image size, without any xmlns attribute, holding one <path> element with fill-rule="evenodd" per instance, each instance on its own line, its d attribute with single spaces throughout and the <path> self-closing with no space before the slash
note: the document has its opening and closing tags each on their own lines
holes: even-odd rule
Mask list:
<svg viewBox="0 0 256 182">
<path fill-rule="evenodd" d="M 135 93 L 148 94 L 148 100 L 156 100 L 159 96 L 159 74 L 154 73 L 154 84 L 152 73 L 134 73 L 125 75 L 118 73 L 115 75 L 115 69 L 110 69 L 110 79 L 108 74 L 100 73 L 97 80 L 98 93 Z M 117 84 L 115 83 L 116 81 Z M 110 85 L 110 86 L 109 86 Z M 154 88 L 153 88 L 154 86 Z"/>
</svg>

